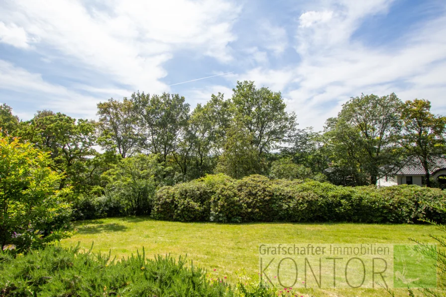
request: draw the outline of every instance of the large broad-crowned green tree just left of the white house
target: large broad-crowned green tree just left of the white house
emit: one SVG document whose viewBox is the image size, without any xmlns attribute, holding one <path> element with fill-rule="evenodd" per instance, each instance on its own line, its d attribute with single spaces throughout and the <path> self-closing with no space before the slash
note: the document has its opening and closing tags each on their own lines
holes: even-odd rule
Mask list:
<svg viewBox="0 0 446 297">
<path fill-rule="evenodd" d="M 342 105 L 331 127 L 333 144 L 340 145 L 356 159 L 372 185 L 401 161 L 398 151 L 401 104 L 393 93 L 383 97 L 362 94 Z"/>
</svg>

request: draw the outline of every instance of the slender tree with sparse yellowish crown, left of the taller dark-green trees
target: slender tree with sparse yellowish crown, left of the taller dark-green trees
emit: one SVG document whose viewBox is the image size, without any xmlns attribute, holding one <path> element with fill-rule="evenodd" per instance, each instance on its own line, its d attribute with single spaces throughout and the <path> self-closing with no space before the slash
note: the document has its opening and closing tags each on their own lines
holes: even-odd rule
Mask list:
<svg viewBox="0 0 446 297">
<path fill-rule="evenodd" d="M 138 111 L 132 100 L 100 102 L 97 114 L 103 148 L 114 151 L 115 146 L 122 158 L 137 151 L 140 141 Z"/>
</svg>

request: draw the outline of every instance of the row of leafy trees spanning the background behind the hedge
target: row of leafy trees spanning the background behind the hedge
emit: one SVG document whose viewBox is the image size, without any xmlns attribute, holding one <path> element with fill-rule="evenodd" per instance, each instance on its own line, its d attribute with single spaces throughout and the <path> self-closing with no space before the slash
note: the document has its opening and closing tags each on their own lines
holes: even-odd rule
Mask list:
<svg viewBox="0 0 446 297">
<path fill-rule="evenodd" d="M 3 104 L 0 127 L 48 152 L 50 168 L 64 176 L 59 190 L 75 195 L 100 196 L 135 175 L 157 187 L 213 173 L 374 185 L 408 156 L 421 162 L 430 187 L 429 160 L 445 153 L 446 117 L 428 100 L 403 102 L 393 93 L 349 99 L 320 132 L 298 128 L 280 92 L 249 81 L 192 110 L 178 94 L 143 92 L 97 107 L 97 121 L 51 110 L 20 121 Z"/>
</svg>

